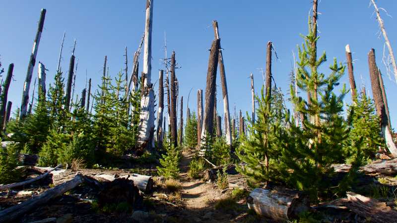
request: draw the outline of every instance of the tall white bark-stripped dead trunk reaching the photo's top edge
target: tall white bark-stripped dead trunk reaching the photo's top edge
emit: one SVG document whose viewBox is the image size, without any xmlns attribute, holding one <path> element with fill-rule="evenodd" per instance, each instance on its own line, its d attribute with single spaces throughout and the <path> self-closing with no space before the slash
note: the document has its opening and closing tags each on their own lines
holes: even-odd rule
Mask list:
<svg viewBox="0 0 397 223">
<path fill-rule="evenodd" d="M 140 101 L 140 114 L 138 126 L 138 147 L 151 150 L 154 148 L 154 91 L 151 83 L 151 58 L 152 58 L 152 22 L 153 0 L 146 0 L 146 23 L 143 48 L 144 81 L 142 98 Z"/>
</svg>

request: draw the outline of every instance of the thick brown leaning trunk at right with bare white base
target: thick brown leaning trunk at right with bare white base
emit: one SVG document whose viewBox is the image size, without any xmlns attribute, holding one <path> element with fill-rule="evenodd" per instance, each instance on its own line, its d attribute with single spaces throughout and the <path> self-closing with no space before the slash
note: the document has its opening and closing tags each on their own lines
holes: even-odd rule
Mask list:
<svg viewBox="0 0 397 223">
<path fill-rule="evenodd" d="M 375 50 L 371 49 L 368 53 L 369 74 L 371 77 L 372 94 L 375 101 L 376 113 L 381 120 L 382 135 L 385 138 L 386 145 L 393 156 L 397 156 L 397 148 L 393 142 L 391 129 L 388 125 L 385 102 L 383 101 L 382 90 L 379 81 L 378 67 L 375 61 Z"/>
</svg>

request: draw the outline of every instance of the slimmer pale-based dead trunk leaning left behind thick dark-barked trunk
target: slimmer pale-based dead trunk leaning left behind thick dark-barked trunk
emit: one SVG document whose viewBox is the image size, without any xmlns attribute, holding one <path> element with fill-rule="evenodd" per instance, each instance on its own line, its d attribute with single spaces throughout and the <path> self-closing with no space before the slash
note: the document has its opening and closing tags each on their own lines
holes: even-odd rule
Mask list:
<svg viewBox="0 0 397 223">
<path fill-rule="evenodd" d="M 212 26 L 214 27 L 215 39 L 220 39 L 218 22 L 216 20 L 212 21 Z M 221 48 L 220 42 L 219 42 L 219 48 Z M 225 73 L 225 65 L 223 62 L 222 50 L 219 50 L 218 65 L 219 65 L 220 82 L 222 85 L 223 113 L 225 116 L 225 130 L 224 131 L 225 131 L 225 135 L 226 135 L 226 144 L 232 145 L 232 132 L 230 129 L 231 125 L 230 125 L 230 111 L 229 111 L 229 96 L 227 93 L 226 73 Z"/>
</svg>

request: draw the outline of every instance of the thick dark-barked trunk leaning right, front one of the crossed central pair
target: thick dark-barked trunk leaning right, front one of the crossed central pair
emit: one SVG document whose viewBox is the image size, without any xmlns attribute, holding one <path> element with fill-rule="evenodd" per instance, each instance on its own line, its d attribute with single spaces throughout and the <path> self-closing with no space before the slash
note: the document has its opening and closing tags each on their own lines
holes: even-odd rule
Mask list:
<svg viewBox="0 0 397 223">
<path fill-rule="evenodd" d="M 213 136 L 213 113 L 215 105 L 215 87 L 216 87 L 216 68 L 219 59 L 219 39 L 215 39 L 212 42 L 209 59 L 208 59 L 208 70 L 207 70 L 207 81 L 205 87 L 205 111 L 203 125 L 201 129 L 201 139 L 205 136 Z M 205 145 L 205 141 L 200 142 L 201 145 Z M 200 151 L 203 155 L 204 151 Z"/>
</svg>

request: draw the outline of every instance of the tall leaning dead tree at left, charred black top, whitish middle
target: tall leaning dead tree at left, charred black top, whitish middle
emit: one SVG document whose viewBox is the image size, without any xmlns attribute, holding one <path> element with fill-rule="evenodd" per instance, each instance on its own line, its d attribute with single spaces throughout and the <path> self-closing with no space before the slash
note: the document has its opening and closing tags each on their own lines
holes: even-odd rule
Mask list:
<svg viewBox="0 0 397 223">
<path fill-rule="evenodd" d="M 43 9 L 41 9 L 40 20 L 39 20 L 39 25 L 37 27 L 36 38 L 34 39 L 34 42 L 33 42 L 33 49 L 32 49 L 32 54 L 30 55 L 28 71 L 26 73 L 25 82 L 23 84 L 22 102 L 21 102 L 21 109 L 19 111 L 19 119 L 23 119 L 27 114 L 27 108 L 28 108 L 28 103 L 29 103 L 30 81 L 32 81 L 33 68 L 36 64 L 37 50 L 39 48 L 41 33 L 43 32 L 45 17 L 46 17 L 46 9 L 43 8 Z"/>
</svg>

